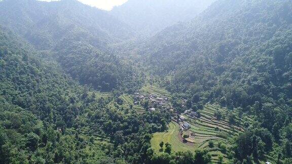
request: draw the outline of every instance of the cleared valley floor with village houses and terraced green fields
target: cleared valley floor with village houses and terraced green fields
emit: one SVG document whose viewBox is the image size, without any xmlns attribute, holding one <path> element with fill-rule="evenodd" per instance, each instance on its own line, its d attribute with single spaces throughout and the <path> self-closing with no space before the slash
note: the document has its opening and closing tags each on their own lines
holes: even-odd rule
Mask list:
<svg viewBox="0 0 292 164">
<path fill-rule="evenodd" d="M 109 98 L 109 93 L 95 92 L 95 97 Z M 164 98 L 159 102 L 160 97 Z M 198 110 L 195 117 L 187 114 L 187 112 L 178 115 L 172 108 L 171 94 L 165 89 L 158 87 L 158 85 L 150 85 L 145 83 L 144 86 L 133 95 L 124 94 L 118 99 L 108 103 L 108 106 L 113 109 L 131 109 L 127 112 L 134 111 L 138 114 L 145 112 L 165 112 L 171 113 L 172 120 L 167 126 L 165 132 L 156 132 L 151 139 L 151 146 L 157 152 L 161 153 L 166 148 L 165 145 L 161 149 L 160 143 L 169 143 L 172 146 L 173 152 L 178 151 L 195 151 L 196 149 L 203 149 L 210 153 L 211 161 L 216 163 L 223 157 L 223 161 L 227 162 L 227 148 L 233 143 L 232 138 L 244 132 L 244 124 L 252 124 L 253 117 L 246 113 L 239 113 L 237 110 L 228 110 L 220 104 L 206 104 L 203 109 Z M 152 100 L 152 101 L 151 101 Z M 156 100 L 156 102 L 153 102 Z M 147 106 L 145 106 L 147 101 Z M 159 105 L 163 102 L 163 105 Z M 184 104 L 184 103 L 182 103 Z M 181 105 L 182 105 L 181 104 Z M 216 112 L 222 113 L 224 117 L 216 117 Z M 234 121 L 231 123 L 230 113 L 235 113 Z M 180 119 L 183 117 L 184 119 Z M 184 125 L 190 125 L 186 128 Z M 184 139 L 184 135 L 188 138 Z M 104 138 L 106 140 L 106 138 Z M 101 141 L 104 141 L 102 139 Z"/>
</svg>

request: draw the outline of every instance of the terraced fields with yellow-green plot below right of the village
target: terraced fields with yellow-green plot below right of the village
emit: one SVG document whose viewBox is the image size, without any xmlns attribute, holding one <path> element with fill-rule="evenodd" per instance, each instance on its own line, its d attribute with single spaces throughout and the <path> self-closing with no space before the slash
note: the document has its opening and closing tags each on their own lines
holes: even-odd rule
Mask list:
<svg viewBox="0 0 292 164">
<path fill-rule="evenodd" d="M 222 113 L 233 112 L 236 116 L 236 125 L 229 124 L 228 117 L 217 120 L 214 113 L 220 110 Z M 243 132 L 243 122 L 252 120 L 248 115 L 242 115 L 239 117 L 239 111 L 228 111 L 226 108 L 221 107 L 218 104 L 207 104 L 204 109 L 199 110 L 201 117 L 198 119 L 190 118 L 186 115 L 186 121 L 189 122 L 191 128 L 189 131 L 184 131 L 184 134 L 189 134 L 190 138 L 187 140 L 194 143 L 193 146 L 182 143 L 177 137 L 179 133 L 179 125 L 172 121 L 169 125 L 168 132 L 155 133 L 151 140 L 152 147 L 159 151 L 159 143 L 169 142 L 172 145 L 173 151 L 194 151 L 198 148 L 207 149 L 212 156 L 212 162 L 217 162 L 218 157 L 222 155 L 224 161 L 227 161 L 227 155 L 222 152 L 221 148 L 218 148 L 218 143 L 231 146 L 229 139 L 237 136 L 239 132 Z M 214 147 L 209 147 L 209 141 L 214 143 Z"/>
</svg>

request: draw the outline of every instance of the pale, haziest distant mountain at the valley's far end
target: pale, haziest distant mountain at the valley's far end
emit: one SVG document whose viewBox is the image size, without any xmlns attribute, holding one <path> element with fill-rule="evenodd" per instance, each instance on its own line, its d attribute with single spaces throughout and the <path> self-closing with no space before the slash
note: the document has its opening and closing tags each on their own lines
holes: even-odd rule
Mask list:
<svg viewBox="0 0 292 164">
<path fill-rule="evenodd" d="M 214 0 L 129 0 L 110 13 L 140 35 L 152 35 L 176 22 L 193 19 L 212 2 Z"/>
</svg>

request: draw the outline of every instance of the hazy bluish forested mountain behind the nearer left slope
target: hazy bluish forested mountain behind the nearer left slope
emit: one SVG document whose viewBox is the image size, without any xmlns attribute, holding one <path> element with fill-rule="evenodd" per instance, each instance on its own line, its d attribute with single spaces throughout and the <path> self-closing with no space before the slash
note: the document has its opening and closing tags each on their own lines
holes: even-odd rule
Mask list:
<svg viewBox="0 0 292 164">
<path fill-rule="evenodd" d="M 132 37 L 125 23 L 105 11 L 75 0 L 0 2 L 0 23 L 23 36 L 36 49 L 53 54 L 81 84 L 110 91 L 133 76 L 130 66 L 108 54 L 107 44 Z M 90 67 L 90 68 L 89 68 Z"/>
</svg>

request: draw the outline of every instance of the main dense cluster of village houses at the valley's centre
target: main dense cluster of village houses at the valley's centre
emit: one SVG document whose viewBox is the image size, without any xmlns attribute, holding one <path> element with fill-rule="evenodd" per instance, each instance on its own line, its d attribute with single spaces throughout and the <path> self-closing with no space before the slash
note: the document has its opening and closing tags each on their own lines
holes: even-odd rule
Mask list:
<svg viewBox="0 0 292 164">
<path fill-rule="evenodd" d="M 173 111 L 167 97 L 158 97 L 155 94 L 145 95 L 140 93 L 134 93 L 134 95 L 134 105 L 141 105 L 143 101 L 148 101 L 148 108 L 150 111 L 155 111 L 157 108 Z"/>
</svg>

